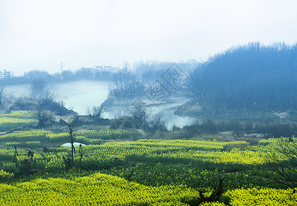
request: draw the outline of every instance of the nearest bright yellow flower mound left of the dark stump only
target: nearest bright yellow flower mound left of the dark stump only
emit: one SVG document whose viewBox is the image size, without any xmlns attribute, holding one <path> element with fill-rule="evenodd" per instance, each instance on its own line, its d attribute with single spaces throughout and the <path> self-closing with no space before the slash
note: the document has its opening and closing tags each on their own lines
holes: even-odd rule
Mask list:
<svg viewBox="0 0 297 206">
<path fill-rule="evenodd" d="M 117 176 L 94 174 L 73 180 L 1 184 L 0 194 L 1 205 L 186 205 L 181 201 L 197 198 L 198 192 L 183 185 L 149 187 Z"/>
</svg>

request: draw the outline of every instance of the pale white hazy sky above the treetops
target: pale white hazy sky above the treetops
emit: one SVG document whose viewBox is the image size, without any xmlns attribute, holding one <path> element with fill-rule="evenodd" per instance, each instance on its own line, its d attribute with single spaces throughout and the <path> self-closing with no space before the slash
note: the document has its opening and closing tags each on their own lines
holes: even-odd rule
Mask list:
<svg viewBox="0 0 297 206">
<path fill-rule="evenodd" d="M 252 41 L 297 42 L 295 0 L 0 0 L 0 71 L 207 60 Z"/>
</svg>

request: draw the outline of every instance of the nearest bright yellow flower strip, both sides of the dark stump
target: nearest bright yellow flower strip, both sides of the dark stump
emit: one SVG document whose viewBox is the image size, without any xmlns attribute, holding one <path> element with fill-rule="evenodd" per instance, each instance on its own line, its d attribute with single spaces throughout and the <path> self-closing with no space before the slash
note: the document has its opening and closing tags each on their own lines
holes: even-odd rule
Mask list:
<svg viewBox="0 0 297 206">
<path fill-rule="evenodd" d="M 210 194 L 210 190 L 206 192 Z M 296 205 L 293 190 L 228 190 L 230 205 Z M 117 176 L 92 174 L 73 179 L 35 179 L 0 184 L 0 205 L 189 205 L 199 203 L 198 190 L 185 185 L 146 186 Z M 204 203 L 201 205 L 224 205 Z"/>
</svg>

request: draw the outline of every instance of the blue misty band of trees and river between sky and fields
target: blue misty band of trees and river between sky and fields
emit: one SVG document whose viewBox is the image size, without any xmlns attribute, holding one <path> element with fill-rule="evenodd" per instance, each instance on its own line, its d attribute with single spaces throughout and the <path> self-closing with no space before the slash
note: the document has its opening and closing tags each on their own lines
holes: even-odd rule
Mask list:
<svg viewBox="0 0 297 206">
<path fill-rule="evenodd" d="M 137 129 L 146 130 L 149 119 L 157 118 L 168 130 L 213 121 L 221 132 L 237 124 L 252 131 L 248 125 L 259 124 L 280 125 L 274 135 L 293 135 L 296 56 L 296 44 L 252 42 L 202 62 L 155 60 L 54 74 L 28 71 L 1 80 L 3 112 L 39 110 L 43 105 L 59 115 L 66 115 L 67 109 L 87 116 L 100 107 L 100 118 Z"/>
</svg>

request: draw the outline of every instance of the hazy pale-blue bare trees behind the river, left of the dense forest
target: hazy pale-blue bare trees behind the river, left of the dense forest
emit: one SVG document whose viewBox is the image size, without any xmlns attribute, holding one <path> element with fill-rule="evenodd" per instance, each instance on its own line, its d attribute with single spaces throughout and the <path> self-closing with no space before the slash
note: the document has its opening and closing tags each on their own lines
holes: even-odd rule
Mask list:
<svg viewBox="0 0 297 206">
<path fill-rule="evenodd" d="M 113 74 L 112 82 L 109 85 L 109 94 L 124 100 L 142 95 L 153 96 L 156 93 L 157 95 L 166 95 L 184 91 L 186 73 L 195 69 L 197 65 L 199 65 L 197 60 L 177 63 L 135 62 L 131 66 L 126 65 L 118 73 Z"/>
</svg>

